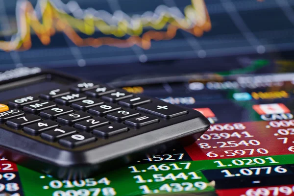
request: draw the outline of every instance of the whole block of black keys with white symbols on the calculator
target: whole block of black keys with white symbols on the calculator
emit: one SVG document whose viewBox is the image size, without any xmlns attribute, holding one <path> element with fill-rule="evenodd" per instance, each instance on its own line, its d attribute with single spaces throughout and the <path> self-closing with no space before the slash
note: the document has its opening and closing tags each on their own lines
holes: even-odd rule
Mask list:
<svg viewBox="0 0 294 196">
<path fill-rule="evenodd" d="M 32 137 L 40 136 L 48 144 L 75 148 L 99 141 L 107 144 L 124 133 L 141 134 L 140 130 L 147 130 L 141 127 L 159 123 L 160 118 L 169 121 L 187 113 L 169 103 L 152 101 L 106 85 L 82 82 L 70 89 L 11 100 L 9 106 L 14 108 L 7 106 L 8 111 L 0 112 L 0 122 L 23 129 Z"/>
</svg>

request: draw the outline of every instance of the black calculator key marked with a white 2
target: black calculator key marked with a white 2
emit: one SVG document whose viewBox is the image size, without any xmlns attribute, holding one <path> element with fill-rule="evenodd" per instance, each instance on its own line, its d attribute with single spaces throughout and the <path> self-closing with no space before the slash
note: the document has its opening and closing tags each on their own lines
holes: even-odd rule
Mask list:
<svg viewBox="0 0 294 196">
<path fill-rule="evenodd" d="M 74 127 L 77 129 L 82 129 L 82 130 L 92 130 L 98 126 L 102 126 L 105 124 L 109 124 L 109 121 L 107 119 L 102 118 L 102 117 L 96 117 L 93 119 L 88 119 L 86 121 L 81 121 L 79 123 L 75 123 Z"/>
</svg>

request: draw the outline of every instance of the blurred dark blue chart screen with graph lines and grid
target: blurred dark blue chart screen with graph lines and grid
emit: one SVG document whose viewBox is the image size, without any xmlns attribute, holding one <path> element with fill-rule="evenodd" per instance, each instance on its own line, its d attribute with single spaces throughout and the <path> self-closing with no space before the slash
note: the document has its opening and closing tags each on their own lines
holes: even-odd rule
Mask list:
<svg viewBox="0 0 294 196">
<path fill-rule="evenodd" d="M 293 6 L 290 0 L 1 0 L 1 68 L 289 50 Z"/>
</svg>

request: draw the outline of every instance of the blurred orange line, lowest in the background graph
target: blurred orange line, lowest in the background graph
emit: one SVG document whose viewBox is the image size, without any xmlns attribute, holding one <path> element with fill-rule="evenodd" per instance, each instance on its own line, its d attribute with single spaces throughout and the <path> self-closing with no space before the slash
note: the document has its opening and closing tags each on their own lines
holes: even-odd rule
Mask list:
<svg viewBox="0 0 294 196">
<path fill-rule="evenodd" d="M 31 33 L 32 29 L 35 34 L 38 36 L 42 44 L 49 45 L 51 37 L 56 32 L 63 32 L 76 46 L 84 47 L 100 47 L 100 46 L 112 46 L 118 48 L 129 48 L 134 45 L 137 45 L 143 49 L 149 49 L 151 47 L 151 41 L 160 41 L 160 40 L 171 40 L 176 36 L 178 29 L 183 29 L 197 37 L 202 36 L 204 31 L 209 31 L 211 29 L 211 22 L 207 10 L 205 9 L 206 21 L 201 26 L 194 26 L 192 28 L 183 28 L 176 21 L 170 22 L 167 25 L 166 31 L 156 31 L 149 30 L 143 33 L 140 36 L 132 35 L 127 39 L 111 38 L 111 37 L 99 37 L 99 38 L 82 38 L 76 32 L 76 29 L 73 28 L 68 20 L 60 16 L 60 13 L 57 10 L 49 5 L 50 9 L 45 9 L 43 13 L 43 24 L 39 22 L 37 17 L 34 14 L 34 8 L 32 4 L 26 1 L 25 10 L 25 23 L 22 23 L 24 29 L 26 29 L 25 34 L 22 39 L 19 38 L 19 42 L 4 42 L 0 43 L 0 49 L 5 51 L 11 50 L 27 50 L 32 46 L 31 42 Z"/>
</svg>

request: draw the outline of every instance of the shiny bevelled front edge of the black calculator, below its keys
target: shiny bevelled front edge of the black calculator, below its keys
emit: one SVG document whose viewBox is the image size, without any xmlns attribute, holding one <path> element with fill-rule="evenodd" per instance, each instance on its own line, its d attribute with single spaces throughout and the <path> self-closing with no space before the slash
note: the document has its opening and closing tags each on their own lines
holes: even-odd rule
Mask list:
<svg viewBox="0 0 294 196">
<path fill-rule="evenodd" d="M 195 125 L 197 123 L 197 126 Z M 38 172 L 43 172 L 60 179 L 82 179 L 98 173 L 106 172 L 136 162 L 146 155 L 162 153 L 176 145 L 190 145 L 194 143 L 210 126 L 204 116 L 188 120 L 176 125 L 156 130 L 156 137 L 144 140 L 151 136 L 149 133 L 134 136 L 137 142 L 119 141 L 112 146 L 102 146 L 97 149 L 70 154 L 72 152 L 61 151 L 60 154 L 45 160 L 36 158 L 35 154 L 26 154 L 7 147 L 0 146 L 1 156 L 15 163 Z M 197 128 L 196 128 L 197 127 Z M 0 144 L 1 145 L 1 144 Z M 134 146 L 136 145 L 136 146 Z M 120 149 L 120 150 L 117 150 Z M 45 152 L 43 152 L 45 153 Z M 49 153 L 52 155 L 52 153 Z M 44 156 L 43 156 L 44 157 Z M 55 160 L 54 160 L 55 158 Z M 67 159 L 68 158 L 68 159 Z M 56 164 L 64 163 L 70 165 Z"/>
</svg>

